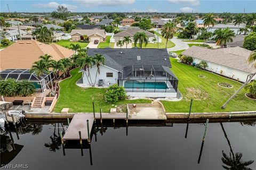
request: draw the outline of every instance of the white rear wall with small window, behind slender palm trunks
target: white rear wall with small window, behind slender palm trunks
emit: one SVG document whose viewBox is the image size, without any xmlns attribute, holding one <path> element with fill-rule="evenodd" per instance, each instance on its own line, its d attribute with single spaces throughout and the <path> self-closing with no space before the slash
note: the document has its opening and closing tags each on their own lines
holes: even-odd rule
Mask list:
<svg viewBox="0 0 256 170">
<path fill-rule="evenodd" d="M 93 66 L 92 68 L 90 68 L 90 75 L 91 75 L 91 79 L 92 82 L 94 83 L 95 81 L 95 75 L 97 73 L 97 66 Z M 86 71 L 87 75 L 88 72 Z M 113 77 L 107 77 L 107 73 L 113 73 Z M 102 79 L 103 83 L 107 83 L 108 81 L 110 82 L 110 84 L 117 84 L 117 79 L 118 79 L 118 71 L 110 69 L 109 67 L 105 66 L 105 65 L 100 65 L 100 74 L 97 74 L 97 78 L 96 78 L 96 86 L 98 86 L 99 84 L 99 80 Z M 85 73 L 83 72 L 83 84 L 89 86 L 89 82 L 86 78 Z"/>
</svg>

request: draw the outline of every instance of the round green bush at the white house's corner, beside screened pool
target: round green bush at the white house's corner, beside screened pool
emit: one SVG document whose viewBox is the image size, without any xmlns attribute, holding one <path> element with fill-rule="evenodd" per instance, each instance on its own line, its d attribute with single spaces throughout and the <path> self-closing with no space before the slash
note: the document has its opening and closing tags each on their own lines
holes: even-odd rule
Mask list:
<svg viewBox="0 0 256 170">
<path fill-rule="evenodd" d="M 126 93 L 124 87 L 119 87 L 117 84 L 114 84 L 108 87 L 104 97 L 106 102 L 115 103 L 118 100 L 124 100 L 126 98 Z"/>
</svg>

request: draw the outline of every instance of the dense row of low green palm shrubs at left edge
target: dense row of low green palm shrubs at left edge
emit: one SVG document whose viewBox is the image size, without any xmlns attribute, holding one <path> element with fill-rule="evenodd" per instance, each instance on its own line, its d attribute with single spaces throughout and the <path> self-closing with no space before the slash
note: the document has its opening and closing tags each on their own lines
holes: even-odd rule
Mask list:
<svg viewBox="0 0 256 170">
<path fill-rule="evenodd" d="M 7 79 L 0 81 L 0 95 L 7 97 L 28 96 L 35 92 L 35 86 L 29 81 Z"/>
</svg>

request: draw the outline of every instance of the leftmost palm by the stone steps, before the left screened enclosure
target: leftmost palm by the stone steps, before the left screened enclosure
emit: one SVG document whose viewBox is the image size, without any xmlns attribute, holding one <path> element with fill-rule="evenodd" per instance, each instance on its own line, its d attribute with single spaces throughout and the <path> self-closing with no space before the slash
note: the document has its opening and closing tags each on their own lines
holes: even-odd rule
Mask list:
<svg viewBox="0 0 256 170">
<path fill-rule="evenodd" d="M 51 89 L 49 87 L 49 85 L 48 85 L 48 83 L 47 83 L 47 81 L 45 80 L 45 77 L 44 77 L 44 74 L 49 74 L 50 73 L 49 68 L 47 67 L 47 63 L 45 63 L 44 60 L 39 60 L 39 61 L 34 62 L 34 64 L 32 65 L 29 72 L 30 72 L 30 74 L 34 72 L 38 78 L 42 77 L 45 81 L 45 84 L 46 84 L 47 88 L 50 89 L 52 96 L 54 96 L 53 89 Z"/>
</svg>

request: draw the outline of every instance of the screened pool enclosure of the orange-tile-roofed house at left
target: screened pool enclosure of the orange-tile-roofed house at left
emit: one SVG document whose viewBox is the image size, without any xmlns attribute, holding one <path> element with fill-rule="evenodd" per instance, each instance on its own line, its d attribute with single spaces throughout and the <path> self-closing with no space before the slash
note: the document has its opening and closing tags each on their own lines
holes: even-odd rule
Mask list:
<svg viewBox="0 0 256 170">
<path fill-rule="evenodd" d="M 16 81 L 27 80 L 34 84 L 36 92 L 43 92 L 46 89 L 46 83 L 50 83 L 55 79 L 53 72 L 43 74 L 43 77 L 37 77 L 35 73 L 30 74 L 29 69 L 6 69 L 0 71 L 0 81 L 9 78 Z"/>
</svg>

